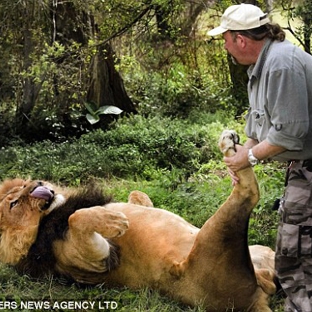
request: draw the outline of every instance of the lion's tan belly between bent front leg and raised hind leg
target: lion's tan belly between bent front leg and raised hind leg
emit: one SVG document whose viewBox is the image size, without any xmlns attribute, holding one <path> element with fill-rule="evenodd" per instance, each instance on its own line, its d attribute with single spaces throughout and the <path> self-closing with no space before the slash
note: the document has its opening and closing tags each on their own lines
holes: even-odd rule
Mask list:
<svg viewBox="0 0 312 312">
<path fill-rule="evenodd" d="M 108 281 L 158 288 L 173 264 L 186 259 L 199 229 L 162 209 L 119 203 L 107 207 L 129 218 L 128 231 L 114 240 L 121 248 L 121 263 Z"/>
</svg>

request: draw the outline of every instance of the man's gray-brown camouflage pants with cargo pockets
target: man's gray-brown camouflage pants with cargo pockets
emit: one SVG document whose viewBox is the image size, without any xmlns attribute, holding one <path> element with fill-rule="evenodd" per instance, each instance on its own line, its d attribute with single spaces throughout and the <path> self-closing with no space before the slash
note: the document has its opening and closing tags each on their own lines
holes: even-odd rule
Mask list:
<svg viewBox="0 0 312 312">
<path fill-rule="evenodd" d="M 285 312 L 312 312 L 312 168 L 293 162 L 279 207 L 275 266 Z"/>
</svg>

